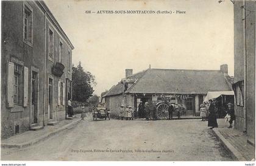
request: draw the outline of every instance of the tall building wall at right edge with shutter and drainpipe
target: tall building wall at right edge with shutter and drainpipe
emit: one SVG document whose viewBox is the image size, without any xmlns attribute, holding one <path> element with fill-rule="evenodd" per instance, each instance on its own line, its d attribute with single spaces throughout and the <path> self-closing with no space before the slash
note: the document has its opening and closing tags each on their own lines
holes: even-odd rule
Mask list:
<svg viewBox="0 0 256 166">
<path fill-rule="evenodd" d="M 255 1 L 234 1 L 235 128 L 255 144 Z"/>
</svg>

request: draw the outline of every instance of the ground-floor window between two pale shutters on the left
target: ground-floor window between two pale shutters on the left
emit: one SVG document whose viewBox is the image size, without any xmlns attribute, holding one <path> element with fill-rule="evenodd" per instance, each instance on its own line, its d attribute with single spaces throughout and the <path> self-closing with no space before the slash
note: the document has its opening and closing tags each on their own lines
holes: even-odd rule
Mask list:
<svg viewBox="0 0 256 166">
<path fill-rule="evenodd" d="M 14 64 L 14 82 L 13 82 L 13 103 L 18 105 L 19 102 L 19 91 L 21 86 L 20 75 L 21 75 L 21 65 Z"/>
</svg>

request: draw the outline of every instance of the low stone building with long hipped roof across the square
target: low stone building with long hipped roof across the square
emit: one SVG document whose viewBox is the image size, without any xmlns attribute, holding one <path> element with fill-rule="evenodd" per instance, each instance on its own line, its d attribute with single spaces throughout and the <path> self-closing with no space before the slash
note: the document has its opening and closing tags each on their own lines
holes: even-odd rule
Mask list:
<svg viewBox="0 0 256 166">
<path fill-rule="evenodd" d="M 227 64 L 220 70 L 146 69 L 132 74 L 126 69 L 126 82 L 122 79 L 109 89 L 105 104 L 112 114 L 118 115 L 122 103 L 138 107 L 139 102 L 168 102 L 180 104 L 186 115 L 199 115 L 199 106 L 209 91 L 232 91 Z"/>
</svg>

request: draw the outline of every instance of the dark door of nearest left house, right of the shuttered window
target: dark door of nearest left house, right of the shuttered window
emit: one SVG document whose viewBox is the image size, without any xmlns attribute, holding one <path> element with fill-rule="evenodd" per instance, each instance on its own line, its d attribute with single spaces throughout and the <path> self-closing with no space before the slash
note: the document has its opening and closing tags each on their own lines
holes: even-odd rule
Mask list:
<svg viewBox="0 0 256 166">
<path fill-rule="evenodd" d="M 38 74 L 32 71 L 31 77 L 31 122 L 37 123 L 38 119 Z"/>
</svg>

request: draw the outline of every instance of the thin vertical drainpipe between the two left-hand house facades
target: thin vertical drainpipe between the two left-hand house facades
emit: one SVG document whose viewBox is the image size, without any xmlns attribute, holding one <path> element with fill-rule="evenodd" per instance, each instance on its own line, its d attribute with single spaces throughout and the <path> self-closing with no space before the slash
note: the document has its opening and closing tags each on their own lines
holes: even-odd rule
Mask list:
<svg viewBox="0 0 256 166">
<path fill-rule="evenodd" d="M 46 12 L 44 12 L 44 83 L 43 83 L 43 125 L 45 126 L 46 108 Z"/>
</svg>

